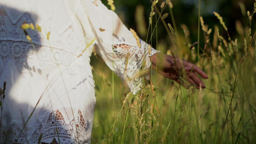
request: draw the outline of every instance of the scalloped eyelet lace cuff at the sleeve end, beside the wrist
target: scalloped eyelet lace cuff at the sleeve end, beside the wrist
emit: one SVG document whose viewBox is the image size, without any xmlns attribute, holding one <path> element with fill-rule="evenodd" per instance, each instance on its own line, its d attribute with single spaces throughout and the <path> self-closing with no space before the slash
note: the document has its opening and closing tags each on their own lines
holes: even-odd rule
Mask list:
<svg viewBox="0 0 256 144">
<path fill-rule="evenodd" d="M 142 84 L 141 74 L 138 74 L 139 71 L 149 68 L 151 62 L 148 57 L 158 52 L 141 39 L 140 44 L 141 48 L 126 44 L 112 45 L 112 50 L 120 60 L 114 63 L 118 69 L 115 72 L 128 84 L 134 93 L 140 89 L 139 85 Z M 147 73 L 143 75 L 147 77 Z"/>
</svg>

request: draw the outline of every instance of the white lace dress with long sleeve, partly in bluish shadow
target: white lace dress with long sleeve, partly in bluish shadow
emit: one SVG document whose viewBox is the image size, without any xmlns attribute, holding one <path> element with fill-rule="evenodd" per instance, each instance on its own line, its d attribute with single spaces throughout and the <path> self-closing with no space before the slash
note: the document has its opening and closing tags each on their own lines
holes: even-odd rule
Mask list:
<svg viewBox="0 0 256 144">
<path fill-rule="evenodd" d="M 93 47 L 136 91 L 157 52 L 138 42 L 100 0 L 0 0 L 0 143 L 90 143 Z"/>
</svg>

